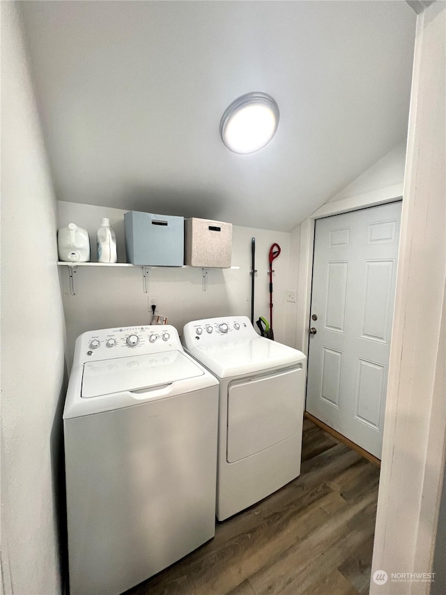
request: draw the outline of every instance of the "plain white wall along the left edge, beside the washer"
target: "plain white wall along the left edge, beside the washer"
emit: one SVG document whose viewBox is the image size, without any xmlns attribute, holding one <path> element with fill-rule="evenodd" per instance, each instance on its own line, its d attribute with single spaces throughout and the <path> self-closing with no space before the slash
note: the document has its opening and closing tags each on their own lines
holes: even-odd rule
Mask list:
<svg viewBox="0 0 446 595">
<path fill-rule="evenodd" d="M 56 200 L 15 3 L 0 9 L 1 565 L 6 593 L 53 595 L 64 392 Z"/>
</svg>

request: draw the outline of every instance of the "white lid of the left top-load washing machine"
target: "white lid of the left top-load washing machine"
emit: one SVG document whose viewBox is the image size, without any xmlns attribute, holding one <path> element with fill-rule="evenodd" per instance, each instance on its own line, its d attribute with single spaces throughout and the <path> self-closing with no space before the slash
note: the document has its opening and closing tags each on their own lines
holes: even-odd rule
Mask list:
<svg viewBox="0 0 446 595">
<path fill-rule="evenodd" d="M 123 391 L 137 393 L 203 374 L 178 350 L 91 361 L 84 364 L 81 396 L 89 399 Z"/>
</svg>

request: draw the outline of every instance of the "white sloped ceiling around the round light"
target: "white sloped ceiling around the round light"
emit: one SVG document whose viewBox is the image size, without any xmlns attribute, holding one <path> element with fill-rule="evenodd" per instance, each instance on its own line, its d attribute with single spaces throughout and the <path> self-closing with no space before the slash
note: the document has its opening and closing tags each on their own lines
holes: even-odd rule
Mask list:
<svg viewBox="0 0 446 595">
<path fill-rule="evenodd" d="M 403 1 L 25 1 L 56 196 L 289 231 L 406 135 Z M 269 93 L 275 138 L 220 118 Z"/>
</svg>

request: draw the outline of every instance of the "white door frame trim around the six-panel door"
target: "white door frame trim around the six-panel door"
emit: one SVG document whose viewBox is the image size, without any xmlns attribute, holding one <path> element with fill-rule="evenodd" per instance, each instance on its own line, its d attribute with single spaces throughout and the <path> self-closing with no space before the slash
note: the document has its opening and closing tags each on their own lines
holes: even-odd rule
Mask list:
<svg viewBox="0 0 446 595">
<path fill-rule="evenodd" d="M 378 206 L 403 199 L 403 183 L 388 186 L 381 190 L 374 190 L 349 198 L 323 204 L 314 211 L 309 218 L 300 225 L 300 250 L 299 250 L 299 280 L 298 280 L 298 309 L 296 317 L 296 348 L 308 357 L 309 345 L 309 317 L 312 303 L 313 283 L 313 256 L 314 256 L 314 227 L 316 219 L 341 215 L 351 211 L 367 209 L 369 206 Z M 305 388 L 305 401 L 307 389 Z"/>
</svg>

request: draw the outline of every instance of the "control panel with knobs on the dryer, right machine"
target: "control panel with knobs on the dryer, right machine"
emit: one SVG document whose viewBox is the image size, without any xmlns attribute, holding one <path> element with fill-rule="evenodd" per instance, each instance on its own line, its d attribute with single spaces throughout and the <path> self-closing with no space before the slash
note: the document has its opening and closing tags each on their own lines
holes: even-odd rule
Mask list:
<svg viewBox="0 0 446 595">
<path fill-rule="evenodd" d="M 183 329 L 183 343 L 187 349 L 258 336 L 247 316 L 193 320 Z"/>
</svg>

